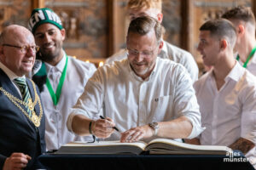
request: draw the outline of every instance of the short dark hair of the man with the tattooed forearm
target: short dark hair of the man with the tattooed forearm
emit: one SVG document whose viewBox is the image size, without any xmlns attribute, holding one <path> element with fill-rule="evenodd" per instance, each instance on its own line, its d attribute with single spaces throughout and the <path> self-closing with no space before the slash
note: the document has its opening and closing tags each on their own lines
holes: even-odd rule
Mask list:
<svg viewBox="0 0 256 170">
<path fill-rule="evenodd" d="M 211 37 L 226 38 L 230 42 L 231 48 L 236 43 L 236 28 L 229 20 L 218 19 L 208 20 L 199 29 L 200 31 L 210 31 Z"/>
</svg>

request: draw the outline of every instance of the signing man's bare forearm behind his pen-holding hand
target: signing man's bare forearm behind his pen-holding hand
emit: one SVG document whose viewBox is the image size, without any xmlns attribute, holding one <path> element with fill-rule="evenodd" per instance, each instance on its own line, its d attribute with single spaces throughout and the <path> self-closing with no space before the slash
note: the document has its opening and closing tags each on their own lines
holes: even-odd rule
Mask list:
<svg viewBox="0 0 256 170">
<path fill-rule="evenodd" d="M 90 135 L 89 124 L 92 120 L 84 115 L 73 116 L 72 130 L 80 136 Z"/>
</svg>

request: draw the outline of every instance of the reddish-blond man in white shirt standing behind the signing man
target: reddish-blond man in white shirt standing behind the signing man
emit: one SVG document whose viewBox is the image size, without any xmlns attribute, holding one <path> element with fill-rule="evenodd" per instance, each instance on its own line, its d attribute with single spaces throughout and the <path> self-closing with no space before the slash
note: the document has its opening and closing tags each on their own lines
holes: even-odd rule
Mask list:
<svg viewBox="0 0 256 170">
<path fill-rule="evenodd" d="M 134 20 L 140 16 L 151 16 L 160 23 L 163 20 L 162 1 L 161 0 L 130 0 L 127 4 L 130 20 Z M 163 41 L 163 48 L 158 54 L 162 59 L 171 59 L 172 61 L 183 65 L 189 71 L 193 82 L 198 79 L 198 66 L 194 57 L 189 52 Z M 116 54 L 110 56 L 106 63 L 112 63 L 116 60 L 126 59 L 126 49 L 121 49 Z"/>
</svg>

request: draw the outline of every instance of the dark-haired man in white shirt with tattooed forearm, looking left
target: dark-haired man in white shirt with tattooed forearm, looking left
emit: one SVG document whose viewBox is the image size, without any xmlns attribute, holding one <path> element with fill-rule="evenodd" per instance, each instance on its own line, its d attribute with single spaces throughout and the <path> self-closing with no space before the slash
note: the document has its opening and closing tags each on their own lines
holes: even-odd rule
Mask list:
<svg viewBox="0 0 256 170">
<path fill-rule="evenodd" d="M 236 29 L 229 20 L 209 20 L 199 38 L 198 51 L 213 69 L 194 84 L 207 127 L 194 142 L 241 150 L 255 166 L 256 77 L 233 57 Z"/>
</svg>

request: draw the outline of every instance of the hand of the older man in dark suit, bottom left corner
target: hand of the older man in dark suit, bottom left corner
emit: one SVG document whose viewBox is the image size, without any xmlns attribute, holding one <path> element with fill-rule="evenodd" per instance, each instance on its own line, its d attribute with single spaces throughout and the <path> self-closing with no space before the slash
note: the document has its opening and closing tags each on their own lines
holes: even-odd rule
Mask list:
<svg viewBox="0 0 256 170">
<path fill-rule="evenodd" d="M 31 156 L 23 153 L 13 153 L 4 161 L 3 170 L 23 169 L 29 160 L 31 160 Z"/>
</svg>

